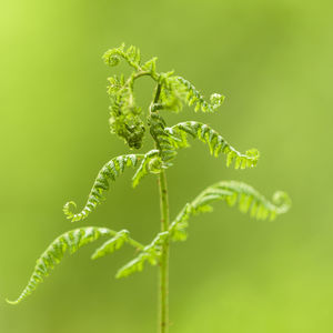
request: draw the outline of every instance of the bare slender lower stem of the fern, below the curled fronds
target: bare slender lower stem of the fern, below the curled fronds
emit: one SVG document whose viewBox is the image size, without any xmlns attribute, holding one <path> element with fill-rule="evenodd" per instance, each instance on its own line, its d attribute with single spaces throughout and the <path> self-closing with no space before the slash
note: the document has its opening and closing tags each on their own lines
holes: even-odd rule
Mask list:
<svg viewBox="0 0 333 333">
<path fill-rule="evenodd" d="M 161 231 L 169 230 L 169 200 L 165 171 L 160 173 Z M 169 332 L 169 240 L 162 245 L 160 261 L 160 333 Z"/>
</svg>

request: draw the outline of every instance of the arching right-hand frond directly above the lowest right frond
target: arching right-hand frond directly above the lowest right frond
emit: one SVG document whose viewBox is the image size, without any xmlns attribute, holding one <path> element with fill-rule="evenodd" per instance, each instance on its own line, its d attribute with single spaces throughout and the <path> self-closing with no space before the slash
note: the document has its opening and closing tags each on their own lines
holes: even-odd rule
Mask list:
<svg viewBox="0 0 333 333">
<path fill-rule="evenodd" d="M 202 142 L 209 144 L 212 155 L 219 157 L 221 153 L 226 155 L 226 167 L 230 167 L 233 162 L 235 162 L 235 169 L 253 168 L 256 165 L 259 159 L 259 152 L 256 149 L 249 150 L 245 154 L 240 153 L 231 147 L 222 135 L 204 123 L 185 121 L 171 128 L 165 128 L 164 131 L 170 134 L 169 142 L 176 148 L 188 145 L 188 134 L 190 134 L 193 139 L 199 138 Z M 174 137 L 179 140 L 174 141 L 172 139 Z"/>
</svg>

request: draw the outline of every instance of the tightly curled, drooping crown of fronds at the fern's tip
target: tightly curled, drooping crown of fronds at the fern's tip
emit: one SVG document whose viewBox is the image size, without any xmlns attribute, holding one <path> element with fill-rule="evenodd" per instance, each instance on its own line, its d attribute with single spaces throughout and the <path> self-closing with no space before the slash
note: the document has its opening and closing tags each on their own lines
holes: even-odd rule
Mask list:
<svg viewBox="0 0 333 333">
<path fill-rule="evenodd" d="M 159 85 L 159 95 L 153 102 L 151 111 L 170 110 L 180 111 L 183 104 L 193 105 L 195 111 L 214 112 L 224 100 L 219 93 L 213 93 L 210 101 L 205 101 L 196 88 L 182 77 L 174 75 L 173 71 L 167 73 L 157 72 L 157 58 L 152 58 L 141 64 L 139 49 L 124 44 L 107 51 L 104 62 L 117 65 L 120 60 L 125 60 L 133 69 L 128 79 L 110 77 L 108 79 L 108 94 L 110 97 L 110 130 L 123 139 L 130 148 L 140 149 L 145 133 L 144 121 L 141 119 L 142 110 L 135 103 L 134 81 L 141 77 L 150 77 Z"/>
</svg>

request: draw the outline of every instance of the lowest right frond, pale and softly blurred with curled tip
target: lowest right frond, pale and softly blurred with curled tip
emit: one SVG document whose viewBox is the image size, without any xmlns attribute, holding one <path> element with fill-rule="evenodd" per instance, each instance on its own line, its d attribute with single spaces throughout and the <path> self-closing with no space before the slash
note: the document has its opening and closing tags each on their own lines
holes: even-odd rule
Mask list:
<svg viewBox="0 0 333 333">
<path fill-rule="evenodd" d="M 185 240 L 190 216 L 212 211 L 211 204 L 215 201 L 225 201 L 230 206 L 238 205 L 241 212 L 250 212 L 250 215 L 258 220 L 274 220 L 276 215 L 286 213 L 291 206 L 291 200 L 285 192 L 275 192 L 270 201 L 245 183 L 223 181 L 206 188 L 182 209 L 170 224 L 170 238 L 174 241 Z"/>
</svg>

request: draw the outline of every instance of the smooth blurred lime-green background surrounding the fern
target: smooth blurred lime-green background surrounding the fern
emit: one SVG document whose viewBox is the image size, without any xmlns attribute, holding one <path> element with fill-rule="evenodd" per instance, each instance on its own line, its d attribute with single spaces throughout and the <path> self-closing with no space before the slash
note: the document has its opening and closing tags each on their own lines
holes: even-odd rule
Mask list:
<svg viewBox="0 0 333 333">
<path fill-rule="evenodd" d="M 0 332 L 155 332 L 157 270 L 113 278 L 131 249 L 91 262 L 87 246 L 19 306 L 3 301 L 65 230 L 127 228 L 143 242 L 159 230 L 155 179 L 132 190 L 132 172 L 87 222 L 72 225 L 61 211 L 70 199 L 83 204 L 101 165 L 128 151 L 109 134 L 112 71 L 101 61 L 121 42 L 158 56 L 160 70 L 176 70 L 206 95 L 228 97 L 216 114 L 185 110 L 171 122 L 205 119 L 241 151 L 261 151 L 249 171 L 226 170 L 200 142 L 181 151 L 168 171 L 171 216 L 224 179 L 293 199 L 273 223 L 224 204 L 192 220 L 188 242 L 171 253 L 171 332 L 332 332 L 331 3 L 2 0 Z M 153 85 L 141 83 L 147 105 Z"/>
</svg>

